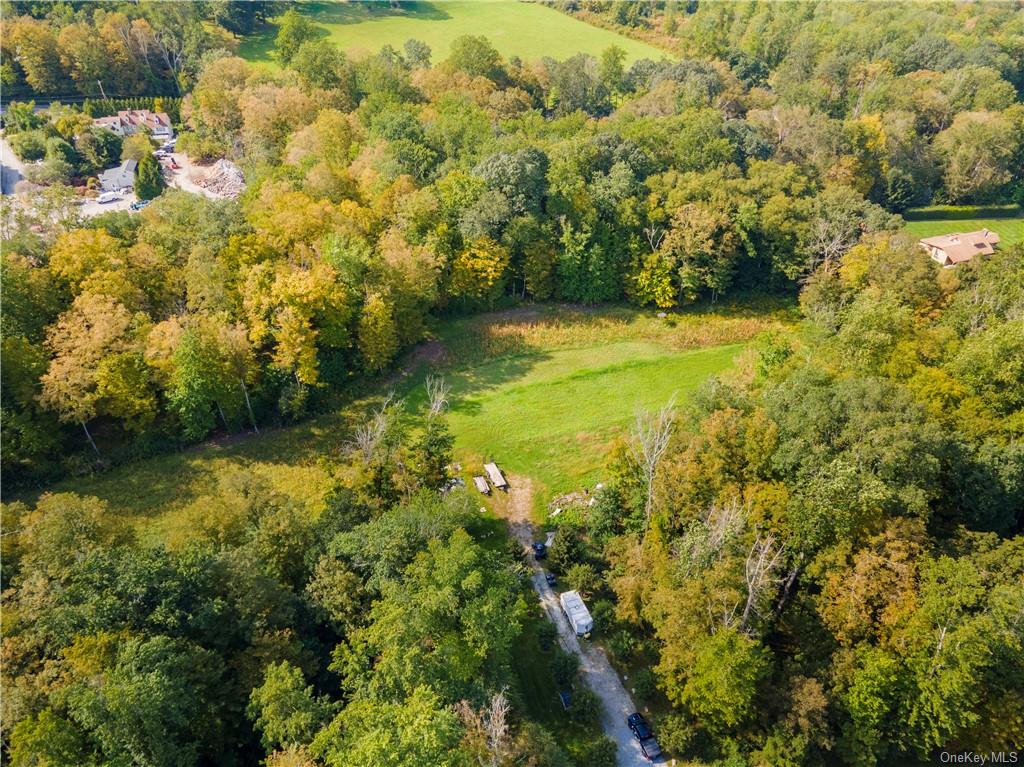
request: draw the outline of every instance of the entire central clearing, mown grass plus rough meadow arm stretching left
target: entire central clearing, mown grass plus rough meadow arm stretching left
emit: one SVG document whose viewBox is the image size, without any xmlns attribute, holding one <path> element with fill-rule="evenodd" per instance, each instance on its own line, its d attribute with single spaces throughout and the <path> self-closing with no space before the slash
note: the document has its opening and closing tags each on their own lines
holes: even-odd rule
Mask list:
<svg viewBox="0 0 1024 767">
<path fill-rule="evenodd" d="M 788 324 L 785 305 L 692 310 L 657 318 L 626 308 L 544 306 L 442 324 L 435 340 L 403 360 L 403 372 L 372 396 L 297 426 L 238 435 L 160 456 L 93 477 L 66 480 L 109 502 L 144 540 L 187 538 L 189 505 L 217 494 L 218 482 L 251 471 L 312 513 L 328 488 L 323 458 L 338 457 L 367 411 L 393 390 L 415 416 L 423 380 L 443 374 L 452 386 L 451 424 L 466 474 L 486 457 L 535 478 L 536 499 L 590 482 L 607 444 L 638 408 L 686 395 L 728 368 L 759 332 Z M 478 470 L 478 466 L 476 467 Z"/>
</svg>

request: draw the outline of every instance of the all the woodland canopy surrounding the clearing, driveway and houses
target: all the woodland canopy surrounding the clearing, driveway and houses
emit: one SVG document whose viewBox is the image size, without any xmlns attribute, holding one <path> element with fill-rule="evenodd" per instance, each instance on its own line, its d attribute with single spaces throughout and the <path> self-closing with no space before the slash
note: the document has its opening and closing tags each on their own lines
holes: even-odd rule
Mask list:
<svg viewBox="0 0 1024 767">
<path fill-rule="evenodd" d="M 681 758 L 1024 748 L 1024 247 L 942 269 L 900 231 L 1022 201 L 1024 12 L 555 5 L 666 56 L 349 56 L 265 3 L 3 2 L 4 138 L 39 161 L 0 212 L 5 493 L 335 408 L 441 316 L 799 295 L 798 330 L 614 445 L 551 569 Z M 234 55 L 271 16 L 280 68 Z M 72 185 L 152 146 L 30 99 L 97 79 L 166 98 L 244 194 L 83 218 Z M 613 764 L 523 714 L 526 569 L 441 493 L 431 386 L 339 434 L 315 511 L 247 471 L 159 545 L 96 498 L 9 504 L 5 758 Z"/>
</svg>

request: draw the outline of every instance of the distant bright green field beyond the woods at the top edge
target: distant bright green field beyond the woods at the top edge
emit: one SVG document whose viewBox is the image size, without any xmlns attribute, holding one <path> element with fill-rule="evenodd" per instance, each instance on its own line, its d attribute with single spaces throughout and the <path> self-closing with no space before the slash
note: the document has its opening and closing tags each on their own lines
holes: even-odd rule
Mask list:
<svg viewBox="0 0 1024 767">
<path fill-rule="evenodd" d="M 611 45 L 626 51 L 628 62 L 658 59 L 666 51 L 532 3 L 516 0 L 476 2 L 403 2 L 400 9 L 360 2 L 305 2 L 299 9 L 315 19 L 343 50 L 376 52 L 384 45 L 400 49 L 410 38 L 433 51 L 433 61 L 447 57 L 452 41 L 462 35 L 484 35 L 506 58 L 534 60 L 567 58 L 575 53 L 599 54 Z M 243 41 L 239 54 L 268 66 L 273 59 L 276 27 L 268 25 Z"/>
</svg>

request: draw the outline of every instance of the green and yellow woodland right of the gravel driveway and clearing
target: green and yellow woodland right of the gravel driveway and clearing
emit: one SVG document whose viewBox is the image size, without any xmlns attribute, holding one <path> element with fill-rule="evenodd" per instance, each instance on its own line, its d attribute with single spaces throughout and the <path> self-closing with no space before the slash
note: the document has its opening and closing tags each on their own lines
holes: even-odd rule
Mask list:
<svg viewBox="0 0 1024 767">
<path fill-rule="evenodd" d="M 613 453 L 558 535 L 644 637 L 670 748 L 754 765 L 1020 748 L 1022 285 L 1020 246 L 950 275 L 867 238 L 804 288 L 810 335 L 766 339 L 679 417 L 652 483 Z"/>
</svg>

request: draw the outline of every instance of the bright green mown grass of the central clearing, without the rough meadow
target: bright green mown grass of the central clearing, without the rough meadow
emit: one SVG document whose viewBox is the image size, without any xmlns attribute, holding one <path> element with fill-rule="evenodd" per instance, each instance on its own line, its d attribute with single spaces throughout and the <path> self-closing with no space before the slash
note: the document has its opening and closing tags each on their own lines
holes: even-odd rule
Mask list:
<svg viewBox="0 0 1024 767">
<path fill-rule="evenodd" d="M 730 366 L 740 344 L 674 352 L 620 342 L 485 363 L 453 373 L 452 428 L 465 459 L 540 482 L 541 497 L 597 480 L 636 414 L 687 395 Z M 546 493 L 545 493 L 546 492 Z"/>
</svg>

